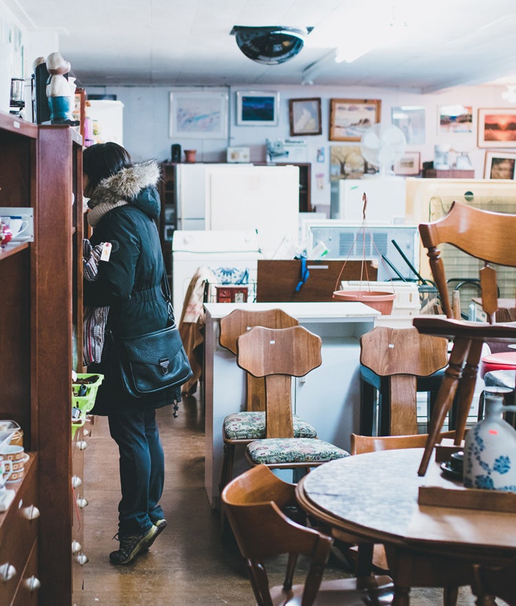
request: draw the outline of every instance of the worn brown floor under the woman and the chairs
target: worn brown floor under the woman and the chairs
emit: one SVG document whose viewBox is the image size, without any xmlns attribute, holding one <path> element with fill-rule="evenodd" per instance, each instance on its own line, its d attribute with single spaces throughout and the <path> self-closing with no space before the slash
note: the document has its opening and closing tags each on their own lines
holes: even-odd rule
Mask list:
<svg viewBox="0 0 516 606">
<path fill-rule="evenodd" d="M 151 550 L 133 563 L 109 563 L 118 549 L 118 450 L 107 419 L 96 417 L 85 457 L 85 553 L 83 596 L 77 606 L 252 606 L 254 596 L 234 545 L 220 540 L 219 514 L 204 491 L 204 414 L 188 397 L 174 419 L 171 408 L 158 410 L 166 457 L 162 507 L 168 527 Z M 281 582 L 279 564 L 268 570 L 272 585 Z M 350 576 L 334 558 L 325 578 Z M 302 577 L 298 582 L 302 581 Z M 473 606 L 469 587 L 460 589 L 458 606 Z M 502 604 L 502 602 L 499 602 Z M 411 606 L 442 605 L 441 589 L 412 589 Z"/>
</svg>

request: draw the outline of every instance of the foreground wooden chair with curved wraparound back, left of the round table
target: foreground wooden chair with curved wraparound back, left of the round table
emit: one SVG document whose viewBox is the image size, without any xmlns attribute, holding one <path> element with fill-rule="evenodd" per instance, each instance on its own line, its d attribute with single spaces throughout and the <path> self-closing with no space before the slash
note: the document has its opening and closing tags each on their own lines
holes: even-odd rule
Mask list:
<svg viewBox="0 0 516 606">
<path fill-rule="evenodd" d="M 258 606 L 389 605 L 392 583 L 388 576 L 323 581 L 332 539 L 286 515 L 296 507 L 294 485 L 259 465 L 239 475 L 222 491 L 222 506 L 246 562 Z M 283 585 L 269 586 L 268 559 L 288 554 Z M 294 585 L 299 556 L 308 558 L 303 584 Z"/>
</svg>

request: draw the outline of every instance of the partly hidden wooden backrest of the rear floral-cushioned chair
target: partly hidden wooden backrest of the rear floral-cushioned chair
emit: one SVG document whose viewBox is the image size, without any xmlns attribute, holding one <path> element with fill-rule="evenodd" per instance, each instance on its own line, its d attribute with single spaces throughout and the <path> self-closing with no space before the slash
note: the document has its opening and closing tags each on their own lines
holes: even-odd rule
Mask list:
<svg viewBox="0 0 516 606">
<path fill-rule="evenodd" d="M 287 328 L 298 325 L 299 320 L 282 309 L 235 309 L 220 319 L 219 343 L 236 355 L 238 337 L 252 326 Z M 246 410 L 265 410 L 265 381 L 249 373 L 246 375 Z"/>
</svg>

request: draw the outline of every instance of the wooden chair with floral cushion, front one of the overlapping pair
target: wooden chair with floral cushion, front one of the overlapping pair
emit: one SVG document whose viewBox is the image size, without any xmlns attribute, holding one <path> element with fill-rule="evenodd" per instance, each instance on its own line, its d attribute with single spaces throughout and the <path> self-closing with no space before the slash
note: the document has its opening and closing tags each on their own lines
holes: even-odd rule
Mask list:
<svg viewBox="0 0 516 606">
<path fill-rule="evenodd" d="M 321 337 L 303 326 L 255 326 L 237 339 L 237 364 L 255 377 L 265 377 L 266 436 L 248 443 L 250 465 L 302 469 L 349 456 L 333 444 L 294 437 L 292 377 L 303 377 L 321 366 Z M 314 403 L 314 405 L 316 405 Z"/>
</svg>

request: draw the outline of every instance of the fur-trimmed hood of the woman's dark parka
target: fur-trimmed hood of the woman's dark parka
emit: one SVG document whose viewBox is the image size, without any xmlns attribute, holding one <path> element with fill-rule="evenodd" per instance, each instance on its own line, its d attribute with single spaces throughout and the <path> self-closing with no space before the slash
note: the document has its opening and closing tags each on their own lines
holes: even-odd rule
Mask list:
<svg viewBox="0 0 516 606">
<path fill-rule="evenodd" d="M 98 223 L 106 212 L 127 203 L 151 219 L 157 219 L 161 206 L 156 189 L 159 180 L 160 169 L 154 160 L 135 164 L 103 179 L 89 198 L 90 224 Z"/>
</svg>

